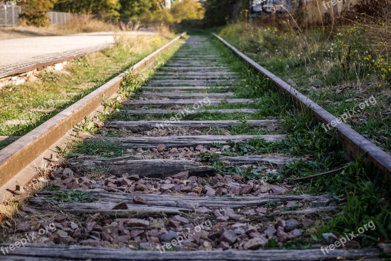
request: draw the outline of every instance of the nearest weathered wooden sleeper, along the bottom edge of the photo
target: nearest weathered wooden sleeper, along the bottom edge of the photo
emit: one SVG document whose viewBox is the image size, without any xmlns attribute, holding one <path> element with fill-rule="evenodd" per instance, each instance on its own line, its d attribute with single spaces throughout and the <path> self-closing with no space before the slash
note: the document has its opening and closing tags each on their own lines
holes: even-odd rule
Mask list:
<svg viewBox="0 0 391 261">
<path fill-rule="evenodd" d="M 10 244 L 0 244 L 9 247 Z M 335 249 L 324 255 L 320 249 L 305 250 L 253 250 L 253 251 L 134 251 L 126 248 L 96 248 L 89 246 L 65 246 L 59 244 L 32 244 L 16 248 L 3 261 L 335 261 L 335 260 L 384 260 L 378 249 Z"/>
</svg>

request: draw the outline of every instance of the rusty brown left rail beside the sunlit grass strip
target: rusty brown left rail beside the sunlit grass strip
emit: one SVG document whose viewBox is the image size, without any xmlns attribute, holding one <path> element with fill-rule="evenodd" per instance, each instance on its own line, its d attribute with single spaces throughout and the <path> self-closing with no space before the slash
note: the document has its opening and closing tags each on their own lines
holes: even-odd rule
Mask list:
<svg viewBox="0 0 391 261">
<path fill-rule="evenodd" d="M 151 55 L 142 59 L 132 67 L 133 73 L 138 73 L 151 65 L 155 58 L 177 42 L 186 33 L 174 38 L 170 43 L 154 51 Z M 97 111 L 102 104 L 103 96 L 114 97 L 123 81 L 124 73 L 116 76 L 108 83 L 94 90 L 67 109 L 61 111 L 41 126 L 30 131 L 11 145 L 0 151 L 0 196 L 4 200 L 10 195 L 5 191 L 14 190 L 16 184 L 25 185 L 36 175 L 34 171 L 26 169 L 43 152 L 47 151 L 53 144 L 59 142 L 76 123 L 81 122 L 84 117 Z M 24 172 L 23 172 L 24 170 Z M 26 174 L 28 173 L 28 174 Z M 34 174 L 33 174 L 34 173 Z"/>
</svg>

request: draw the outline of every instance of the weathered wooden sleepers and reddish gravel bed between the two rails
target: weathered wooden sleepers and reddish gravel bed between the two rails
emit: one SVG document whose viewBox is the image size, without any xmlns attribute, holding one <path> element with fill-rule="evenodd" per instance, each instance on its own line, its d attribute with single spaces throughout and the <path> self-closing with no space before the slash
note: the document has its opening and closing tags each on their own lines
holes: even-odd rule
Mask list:
<svg viewBox="0 0 391 261">
<path fill-rule="evenodd" d="M 326 253 L 321 247 L 337 240 L 327 234 L 289 249 L 346 202 L 257 178 L 307 159 L 251 151 L 251 141 L 277 143 L 287 133 L 282 119 L 257 116 L 261 99 L 236 97 L 238 78 L 209 38 L 190 37 L 137 100 L 79 141 L 87 153 L 53 163 L 62 168 L 16 226 L 26 236 L 49 229 L 40 243 L 0 244 L 8 247 L 2 260 L 382 260 L 378 249 L 354 245 Z"/>
</svg>

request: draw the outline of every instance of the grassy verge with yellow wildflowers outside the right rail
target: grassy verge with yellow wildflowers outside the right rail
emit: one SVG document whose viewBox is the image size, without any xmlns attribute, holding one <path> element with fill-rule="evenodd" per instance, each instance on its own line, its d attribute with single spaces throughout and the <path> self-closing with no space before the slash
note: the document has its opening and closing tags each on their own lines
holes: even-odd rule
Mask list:
<svg viewBox="0 0 391 261">
<path fill-rule="evenodd" d="M 378 30 L 369 31 L 372 26 Z M 341 27 L 335 34 L 321 29 L 301 34 L 284 20 L 279 27 L 233 24 L 220 36 L 333 115 L 354 109 L 346 123 L 391 152 L 385 135 L 391 132 L 389 43 L 366 40 L 387 38 L 384 26 L 388 25 L 358 18 L 355 25 Z M 380 36 L 373 38 L 374 34 Z M 371 96 L 374 103 L 358 110 Z"/>
</svg>

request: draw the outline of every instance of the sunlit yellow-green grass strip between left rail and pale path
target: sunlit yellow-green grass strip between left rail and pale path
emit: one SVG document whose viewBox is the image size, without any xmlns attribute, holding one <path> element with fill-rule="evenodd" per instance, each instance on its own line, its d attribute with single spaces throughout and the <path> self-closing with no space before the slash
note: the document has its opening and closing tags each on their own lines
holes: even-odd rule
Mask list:
<svg viewBox="0 0 391 261">
<path fill-rule="evenodd" d="M 31 112 L 28 109 L 65 109 L 120 72 L 130 68 L 153 50 L 167 43 L 162 37 L 121 40 L 115 47 L 95 52 L 65 66 L 68 72 L 43 71 L 40 80 L 21 86 L 7 86 L 0 91 L 0 123 L 25 120 L 24 125 L 0 124 L 0 135 L 21 136 L 58 113 Z M 87 89 L 78 88 L 86 86 Z M 76 96 L 63 92 L 75 92 Z M 56 102 L 64 100 L 61 102 Z"/>
</svg>

